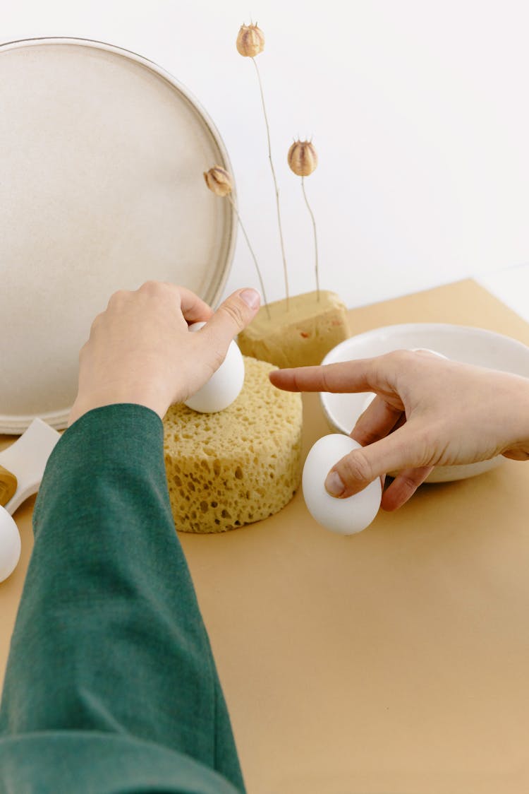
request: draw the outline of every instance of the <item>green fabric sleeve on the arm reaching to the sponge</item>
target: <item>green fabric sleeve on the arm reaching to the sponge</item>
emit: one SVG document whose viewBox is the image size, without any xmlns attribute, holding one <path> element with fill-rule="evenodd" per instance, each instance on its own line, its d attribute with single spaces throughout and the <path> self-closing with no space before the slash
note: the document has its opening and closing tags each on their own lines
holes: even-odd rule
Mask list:
<svg viewBox="0 0 529 794">
<path fill-rule="evenodd" d="M 0 792 L 243 792 L 163 424 L 91 410 L 44 472 L 0 711 Z"/>
</svg>

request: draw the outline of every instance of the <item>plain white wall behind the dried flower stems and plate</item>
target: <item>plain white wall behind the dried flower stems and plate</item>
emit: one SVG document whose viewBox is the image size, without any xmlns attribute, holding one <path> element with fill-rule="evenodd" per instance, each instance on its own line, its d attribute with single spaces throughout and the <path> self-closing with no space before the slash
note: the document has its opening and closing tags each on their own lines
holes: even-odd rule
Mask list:
<svg viewBox="0 0 529 794">
<path fill-rule="evenodd" d="M 282 191 L 291 293 L 313 288 L 312 227 L 286 152 L 312 136 L 306 179 L 323 287 L 349 306 L 529 260 L 525 2 L 2 0 L 2 40 L 78 36 L 154 60 L 193 91 L 232 159 L 240 210 L 282 297 L 282 261 L 252 14 Z M 345 8 L 345 10 L 343 10 Z M 258 286 L 242 235 L 226 292 Z"/>
</svg>

